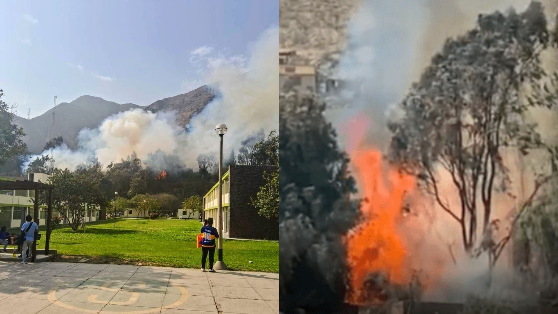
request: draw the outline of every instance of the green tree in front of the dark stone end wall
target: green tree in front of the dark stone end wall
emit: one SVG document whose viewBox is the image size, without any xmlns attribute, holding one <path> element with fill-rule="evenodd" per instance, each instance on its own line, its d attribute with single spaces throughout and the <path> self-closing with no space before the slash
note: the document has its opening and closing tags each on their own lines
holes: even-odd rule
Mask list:
<svg viewBox="0 0 558 314">
<path fill-rule="evenodd" d="M 279 218 L 279 169 L 263 173 L 264 184 L 259 187 L 256 198 L 251 198 L 251 204 L 256 207 L 258 214 L 266 218 Z"/>
</svg>

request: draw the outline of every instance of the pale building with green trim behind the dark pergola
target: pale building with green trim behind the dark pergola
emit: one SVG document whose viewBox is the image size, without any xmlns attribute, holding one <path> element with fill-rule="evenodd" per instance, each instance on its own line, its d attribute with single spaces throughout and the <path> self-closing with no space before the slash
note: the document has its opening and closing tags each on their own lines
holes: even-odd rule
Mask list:
<svg viewBox="0 0 558 314">
<path fill-rule="evenodd" d="M 20 178 L 0 177 L 0 180 L 23 180 Z M 49 183 L 50 175 L 45 173 L 29 173 L 27 180 L 33 182 Z M 8 228 L 20 227 L 25 222 L 25 216 L 33 216 L 35 209 L 33 208 L 33 199 L 35 198 L 34 190 L 3 190 L 0 191 L 0 226 Z M 46 224 L 46 206 L 39 207 L 39 219 L 41 224 Z M 56 212 L 55 212 L 56 215 Z M 87 208 L 85 221 L 97 221 L 99 208 Z M 71 217 L 71 215 L 69 215 Z M 65 218 L 61 223 L 68 223 Z"/>
</svg>

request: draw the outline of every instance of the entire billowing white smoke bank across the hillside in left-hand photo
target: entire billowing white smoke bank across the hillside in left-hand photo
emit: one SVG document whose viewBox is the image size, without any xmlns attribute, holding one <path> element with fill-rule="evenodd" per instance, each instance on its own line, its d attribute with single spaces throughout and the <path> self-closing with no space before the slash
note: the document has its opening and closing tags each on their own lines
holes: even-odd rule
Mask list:
<svg viewBox="0 0 558 314">
<path fill-rule="evenodd" d="M 108 117 L 97 129 L 81 130 L 77 150 L 65 145 L 55 148 L 54 166 L 75 169 L 92 157 L 106 166 L 126 159 L 134 151 L 145 161 L 148 154 L 161 149 L 179 155 L 184 165 L 196 170 L 198 155 L 218 155 L 219 137 L 214 129 L 219 123 L 229 129 L 224 137 L 227 158 L 229 151 L 239 148 L 240 141 L 253 131 L 278 129 L 277 51 L 278 29 L 271 28 L 251 47 L 247 69 L 230 65 L 215 69 L 206 81 L 217 82 L 213 86 L 220 96 L 190 121 L 188 132 L 177 126 L 172 112 L 121 112 Z"/>
</svg>

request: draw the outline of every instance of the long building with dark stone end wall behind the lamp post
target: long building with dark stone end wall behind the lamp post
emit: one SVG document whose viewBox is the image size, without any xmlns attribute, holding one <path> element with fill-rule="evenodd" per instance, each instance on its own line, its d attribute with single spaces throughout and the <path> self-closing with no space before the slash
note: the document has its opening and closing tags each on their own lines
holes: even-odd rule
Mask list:
<svg viewBox="0 0 558 314">
<path fill-rule="evenodd" d="M 223 233 L 224 237 L 238 239 L 279 239 L 279 225 L 276 219 L 268 219 L 258 214 L 250 204 L 259 187 L 264 184 L 263 173 L 273 172 L 276 166 L 229 165 L 223 175 Z M 212 217 L 217 221 L 218 183 L 215 183 L 203 197 L 203 218 Z"/>
</svg>

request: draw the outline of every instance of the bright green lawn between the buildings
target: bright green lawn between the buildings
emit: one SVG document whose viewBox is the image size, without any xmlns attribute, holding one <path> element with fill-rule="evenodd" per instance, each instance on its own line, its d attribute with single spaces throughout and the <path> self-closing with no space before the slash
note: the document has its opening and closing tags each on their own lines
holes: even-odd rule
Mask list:
<svg viewBox="0 0 558 314">
<path fill-rule="evenodd" d="M 45 247 L 45 229 L 40 226 L 43 235 L 37 248 Z M 200 268 L 201 249 L 196 248 L 200 229 L 197 220 L 140 220 L 136 225 L 134 219 L 117 218 L 116 229 L 112 219 L 96 221 L 87 223 L 85 234 L 59 226 L 52 231 L 50 248 L 58 250 L 57 260 Z M 278 273 L 279 242 L 224 239 L 223 260 L 233 270 Z"/>
</svg>

